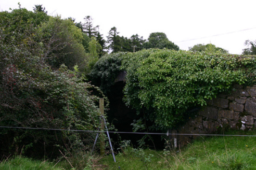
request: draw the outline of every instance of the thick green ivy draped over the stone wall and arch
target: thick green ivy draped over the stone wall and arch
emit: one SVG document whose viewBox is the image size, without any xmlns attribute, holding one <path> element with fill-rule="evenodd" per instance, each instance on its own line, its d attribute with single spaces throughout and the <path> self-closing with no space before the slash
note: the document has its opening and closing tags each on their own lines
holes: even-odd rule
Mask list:
<svg viewBox="0 0 256 170">
<path fill-rule="evenodd" d="M 151 122 L 152 129 L 163 130 L 184 122 L 234 84 L 255 83 L 255 68 L 254 56 L 149 49 L 105 56 L 92 75 L 106 91 L 125 70 L 124 101 L 141 116 L 135 129 Z"/>
</svg>

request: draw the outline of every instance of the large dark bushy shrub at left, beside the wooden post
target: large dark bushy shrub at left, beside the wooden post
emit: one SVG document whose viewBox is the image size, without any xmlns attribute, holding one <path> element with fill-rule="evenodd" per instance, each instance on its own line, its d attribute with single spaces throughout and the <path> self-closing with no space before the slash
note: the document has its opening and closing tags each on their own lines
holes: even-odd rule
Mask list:
<svg viewBox="0 0 256 170">
<path fill-rule="evenodd" d="M 28 15 L 32 19 L 24 20 Z M 55 22 L 71 23 L 52 18 L 41 20 L 50 23 L 40 26 L 33 20 L 37 15 L 43 14 L 22 8 L 0 12 L 0 125 L 94 130 L 99 124 L 99 109 L 98 97 L 91 90 L 96 89 L 84 82 L 78 67 L 74 72 L 65 65 L 52 69 L 47 62 L 48 52 L 57 52 L 59 44 L 49 43 L 56 32 L 46 33 L 43 27 L 58 24 Z M 69 33 L 62 30 L 58 34 Z M 91 134 L 79 132 L 1 129 L 0 134 L 0 144 L 4 146 L 1 157 L 22 152 L 37 158 L 56 158 L 61 155 L 60 150 L 71 154 L 93 142 Z"/>
</svg>

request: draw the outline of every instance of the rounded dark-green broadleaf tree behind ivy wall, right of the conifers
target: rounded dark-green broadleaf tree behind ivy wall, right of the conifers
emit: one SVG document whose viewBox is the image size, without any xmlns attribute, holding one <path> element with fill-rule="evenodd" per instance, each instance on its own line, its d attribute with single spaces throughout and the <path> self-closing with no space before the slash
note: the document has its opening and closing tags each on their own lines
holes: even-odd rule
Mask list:
<svg viewBox="0 0 256 170">
<path fill-rule="evenodd" d="M 145 49 L 150 49 L 150 48 L 158 48 L 158 49 L 173 49 L 173 50 L 179 50 L 180 48 L 169 41 L 167 36 L 164 33 L 151 33 L 149 35 L 148 41 L 146 41 L 143 44 Z"/>
</svg>

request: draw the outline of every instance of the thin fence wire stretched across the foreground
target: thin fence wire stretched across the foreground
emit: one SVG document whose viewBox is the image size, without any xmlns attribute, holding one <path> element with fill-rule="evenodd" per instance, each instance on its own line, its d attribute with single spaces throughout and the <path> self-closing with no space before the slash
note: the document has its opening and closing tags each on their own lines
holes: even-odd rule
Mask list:
<svg viewBox="0 0 256 170">
<path fill-rule="evenodd" d="M 40 127 L 12 127 L 0 126 L 0 128 L 8 129 L 30 129 L 30 130 L 48 130 L 48 131 L 72 131 L 72 132 L 86 132 L 86 133 L 106 133 L 107 131 L 86 131 L 86 130 L 69 130 L 69 129 L 47 129 Z M 119 134 L 139 134 L 139 135 L 185 135 L 185 136 L 235 136 L 235 137 L 256 137 L 256 135 L 222 135 L 222 134 L 190 134 L 190 133 L 149 133 L 149 132 L 116 132 L 108 131 L 109 133 Z"/>
</svg>

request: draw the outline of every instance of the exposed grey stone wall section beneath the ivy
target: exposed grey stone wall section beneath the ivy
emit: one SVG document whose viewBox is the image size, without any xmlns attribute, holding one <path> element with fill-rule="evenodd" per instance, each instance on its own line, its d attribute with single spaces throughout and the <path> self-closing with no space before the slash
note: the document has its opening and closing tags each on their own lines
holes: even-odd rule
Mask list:
<svg viewBox="0 0 256 170">
<path fill-rule="evenodd" d="M 243 88 L 234 86 L 231 94 L 220 94 L 207 102 L 197 116 L 173 131 L 186 134 L 211 134 L 222 128 L 250 130 L 256 127 L 256 85 Z M 196 136 L 178 135 L 180 146 Z"/>
</svg>

